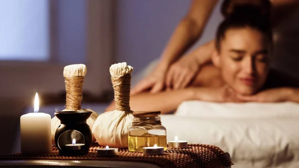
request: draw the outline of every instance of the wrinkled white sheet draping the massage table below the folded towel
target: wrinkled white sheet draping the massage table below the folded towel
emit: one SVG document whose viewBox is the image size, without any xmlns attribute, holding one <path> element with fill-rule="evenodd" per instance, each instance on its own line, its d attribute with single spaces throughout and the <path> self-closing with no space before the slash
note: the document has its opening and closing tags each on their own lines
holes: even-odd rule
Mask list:
<svg viewBox="0 0 299 168">
<path fill-rule="evenodd" d="M 298 119 L 199 118 L 162 115 L 167 141 L 210 144 L 228 152 L 232 168 L 299 168 Z"/>
</svg>

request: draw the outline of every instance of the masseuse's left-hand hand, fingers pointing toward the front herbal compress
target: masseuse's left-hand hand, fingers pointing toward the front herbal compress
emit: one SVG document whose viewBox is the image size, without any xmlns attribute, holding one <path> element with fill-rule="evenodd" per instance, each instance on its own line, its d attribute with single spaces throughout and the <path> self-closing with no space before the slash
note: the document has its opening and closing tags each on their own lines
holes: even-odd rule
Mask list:
<svg viewBox="0 0 299 168">
<path fill-rule="evenodd" d="M 151 93 L 161 91 L 164 88 L 166 70 L 166 66 L 159 64 L 149 76 L 138 82 L 138 84 L 131 90 L 131 95 L 147 90 L 150 90 Z"/>
</svg>

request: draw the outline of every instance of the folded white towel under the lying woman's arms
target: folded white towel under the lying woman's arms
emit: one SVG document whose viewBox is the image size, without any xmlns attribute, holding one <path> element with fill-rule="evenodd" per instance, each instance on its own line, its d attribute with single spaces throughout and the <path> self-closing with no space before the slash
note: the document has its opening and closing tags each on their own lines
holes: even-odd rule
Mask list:
<svg viewBox="0 0 299 168">
<path fill-rule="evenodd" d="M 181 103 L 175 115 L 213 118 L 299 118 L 299 104 L 213 103 L 194 100 Z"/>
</svg>

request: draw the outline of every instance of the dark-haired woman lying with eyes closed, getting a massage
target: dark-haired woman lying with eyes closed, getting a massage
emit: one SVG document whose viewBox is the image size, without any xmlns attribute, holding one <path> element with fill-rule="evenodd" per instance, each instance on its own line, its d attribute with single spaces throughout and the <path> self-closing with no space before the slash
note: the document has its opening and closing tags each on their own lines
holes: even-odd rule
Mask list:
<svg viewBox="0 0 299 168">
<path fill-rule="evenodd" d="M 270 69 L 270 20 L 255 7 L 236 6 L 219 25 L 215 45 L 213 64 L 203 67 L 189 87 L 131 95 L 131 109 L 166 114 L 188 100 L 299 102 L 298 83 Z M 106 110 L 115 110 L 114 102 Z"/>
</svg>

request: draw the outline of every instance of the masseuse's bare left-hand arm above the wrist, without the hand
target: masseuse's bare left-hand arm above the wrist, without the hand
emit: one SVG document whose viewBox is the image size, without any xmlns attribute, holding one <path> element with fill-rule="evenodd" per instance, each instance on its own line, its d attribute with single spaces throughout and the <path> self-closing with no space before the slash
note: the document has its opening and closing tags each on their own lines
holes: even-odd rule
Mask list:
<svg viewBox="0 0 299 168">
<path fill-rule="evenodd" d="M 169 66 L 201 35 L 218 0 L 193 0 L 186 16 L 179 22 L 161 55 L 161 64 Z"/>
</svg>

